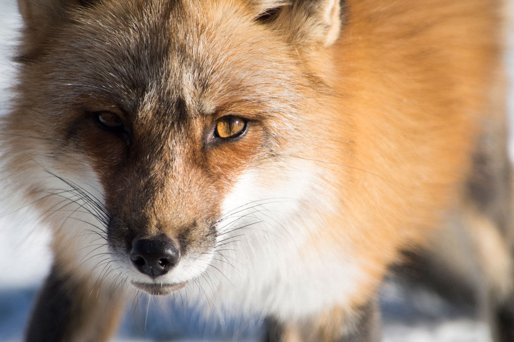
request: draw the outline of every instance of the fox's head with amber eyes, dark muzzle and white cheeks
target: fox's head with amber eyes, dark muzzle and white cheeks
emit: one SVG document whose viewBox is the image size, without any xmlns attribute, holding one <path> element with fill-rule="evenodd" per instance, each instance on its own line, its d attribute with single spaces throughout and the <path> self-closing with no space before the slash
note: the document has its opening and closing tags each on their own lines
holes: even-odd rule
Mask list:
<svg viewBox="0 0 514 342">
<path fill-rule="evenodd" d="M 166 294 L 316 193 L 338 1 L 19 4 L 8 169 L 63 267 Z"/>
</svg>

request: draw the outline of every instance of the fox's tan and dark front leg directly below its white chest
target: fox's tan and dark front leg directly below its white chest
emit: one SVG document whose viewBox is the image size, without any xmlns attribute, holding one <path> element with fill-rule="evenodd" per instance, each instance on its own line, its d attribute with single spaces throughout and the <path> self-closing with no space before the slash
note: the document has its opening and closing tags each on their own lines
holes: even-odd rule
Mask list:
<svg viewBox="0 0 514 342">
<path fill-rule="evenodd" d="M 350 316 L 333 308 L 295 323 L 268 320 L 264 342 L 378 342 L 381 322 L 378 301 L 358 308 Z"/>
</svg>

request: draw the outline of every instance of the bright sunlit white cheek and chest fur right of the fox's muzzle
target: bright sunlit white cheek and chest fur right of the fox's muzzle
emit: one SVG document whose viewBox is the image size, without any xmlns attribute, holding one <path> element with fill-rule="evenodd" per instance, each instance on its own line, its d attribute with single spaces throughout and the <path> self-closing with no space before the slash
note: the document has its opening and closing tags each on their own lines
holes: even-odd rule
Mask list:
<svg viewBox="0 0 514 342">
<path fill-rule="evenodd" d="M 226 197 L 218 236 L 223 257 L 216 272 L 208 271 L 223 274 L 209 300 L 224 312 L 294 319 L 332 305 L 350 310 L 363 276 L 356 260 L 350 250 L 328 244 L 320 250 L 308 239 L 322 221 L 309 208 L 323 208 L 317 201 L 326 200 L 311 182 L 314 172 L 291 163 L 273 181 L 250 171 Z"/>
</svg>

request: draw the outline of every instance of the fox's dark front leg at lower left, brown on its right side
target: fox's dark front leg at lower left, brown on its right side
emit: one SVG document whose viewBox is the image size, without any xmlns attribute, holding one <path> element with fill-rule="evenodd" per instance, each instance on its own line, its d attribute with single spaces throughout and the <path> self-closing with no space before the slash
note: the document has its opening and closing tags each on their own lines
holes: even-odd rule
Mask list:
<svg viewBox="0 0 514 342">
<path fill-rule="evenodd" d="M 26 342 L 102 342 L 124 307 L 114 287 L 80 282 L 54 264 L 32 311 Z"/>
</svg>

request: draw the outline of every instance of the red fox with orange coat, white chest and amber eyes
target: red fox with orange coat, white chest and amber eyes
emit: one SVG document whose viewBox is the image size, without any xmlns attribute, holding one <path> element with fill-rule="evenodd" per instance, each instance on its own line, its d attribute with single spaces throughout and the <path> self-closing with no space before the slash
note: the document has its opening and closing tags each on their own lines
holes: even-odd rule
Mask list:
<svg viewBox="0 0 514 342">
<path fill-rule="evenodd" d="M 270 317 L 270 342 L 378 341 L 388 267 L 467 203 L 503 92 L 495 0 L 19 8 L 3 174 L 54 253 L 27 341 L 106 341 L 139 292 Z M 487 222 L 513 340 L 510 250 Z"/>
</svg>

